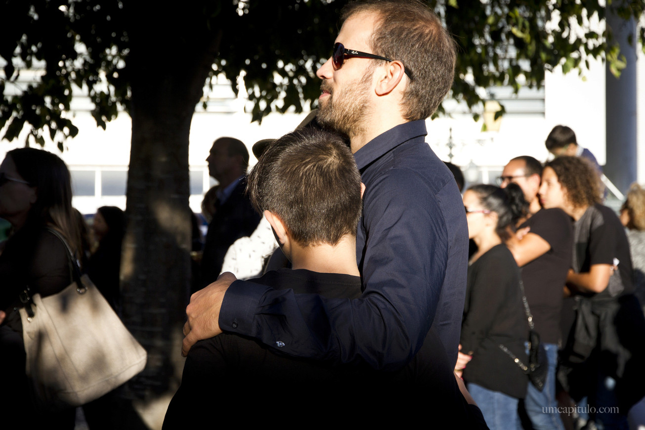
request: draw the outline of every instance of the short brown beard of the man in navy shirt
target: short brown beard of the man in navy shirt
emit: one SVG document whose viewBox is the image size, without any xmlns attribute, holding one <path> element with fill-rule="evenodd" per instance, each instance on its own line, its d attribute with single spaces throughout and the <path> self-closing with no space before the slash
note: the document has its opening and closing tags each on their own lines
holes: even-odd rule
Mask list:
<svg viewBox="0 0 645 430">
<path fill-rule="evenodd" d="M 364 132 L 370 110 L 368 94 L 371 83 L 372 73 L 366 73 L 361 79 L 347 83 L 343 90 L 334 92 L 328 81 L 323 81 L 321 91 L 327 91 L 329 97 L 319 103 L 318 123 L 349 137 Z"/>
</svg>

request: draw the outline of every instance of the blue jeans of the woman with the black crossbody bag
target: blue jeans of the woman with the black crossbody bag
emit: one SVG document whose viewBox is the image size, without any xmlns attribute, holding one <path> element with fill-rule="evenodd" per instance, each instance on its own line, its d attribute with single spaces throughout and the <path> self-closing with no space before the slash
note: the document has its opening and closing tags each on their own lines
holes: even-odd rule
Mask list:
<svg viewBox="0 0 645 430">
<path fill-rule="evenodd" d="M 477 384 L 468 384 L 468 391 L 481 409 L 490 430 L 513 429 L 519 425 L 517 398 Z"/>
</svg>

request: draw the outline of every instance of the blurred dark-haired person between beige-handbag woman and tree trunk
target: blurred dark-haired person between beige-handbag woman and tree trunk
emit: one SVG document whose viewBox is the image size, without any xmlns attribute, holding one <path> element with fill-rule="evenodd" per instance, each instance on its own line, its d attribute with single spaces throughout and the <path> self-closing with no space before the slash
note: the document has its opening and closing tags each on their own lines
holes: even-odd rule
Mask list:
<svg viewBox="0 0 645 430">
<path fill-rule="evenodd" d="M 116 206 L 101 206 L 96 211 L 92 224 L 96 248 L 87 269 L 90 279 L 117 314 L 121 307 L 119 273 L 125 227 L 125 213 Z"/>
</svg>

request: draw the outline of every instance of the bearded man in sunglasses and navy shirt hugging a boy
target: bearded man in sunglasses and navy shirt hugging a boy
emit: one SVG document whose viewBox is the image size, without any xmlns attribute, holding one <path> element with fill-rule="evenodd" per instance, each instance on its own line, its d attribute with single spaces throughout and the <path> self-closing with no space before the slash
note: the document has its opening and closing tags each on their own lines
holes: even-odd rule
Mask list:
<svg viewBox="0 0 645 430">
<path fill-rule="evenodd" d="M 430 327 L 457 359 L 468 231 L 452 173 L 424 142 L 450 90 L 455 43 L 419 1 L 361 1 L 342 11 L 318 121 L 345 133 L 366 186 L 357 231 L 363 293 L 295 295 L 222 277 L 186 309 L 183 353 L 221 333 L 295 357 L 399 369 Z M 230 284 L 230 286 L 229 286 Z"/>
</svg>

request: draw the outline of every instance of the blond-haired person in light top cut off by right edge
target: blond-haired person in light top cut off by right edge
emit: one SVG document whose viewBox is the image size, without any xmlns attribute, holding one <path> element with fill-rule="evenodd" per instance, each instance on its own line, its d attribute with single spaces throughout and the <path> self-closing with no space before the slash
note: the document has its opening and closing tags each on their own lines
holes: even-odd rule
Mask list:
<svg viewBox="0 0 645 430">
<path fill-rule="evenodd" d="M 645 312 L 645 190 L 639 184 L 631 184 L 620 208 L 620 222 L 627 229 L 630 242 L 634 294 Z"/>
</svg>

